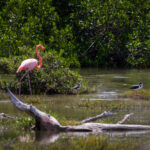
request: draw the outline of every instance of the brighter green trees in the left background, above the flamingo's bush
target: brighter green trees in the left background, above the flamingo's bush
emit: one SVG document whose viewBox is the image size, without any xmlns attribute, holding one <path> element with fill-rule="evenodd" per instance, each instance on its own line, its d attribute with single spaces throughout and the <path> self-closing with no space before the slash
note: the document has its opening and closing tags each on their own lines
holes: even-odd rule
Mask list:
<svg viewBox="0 0 150 150">
<path fill-rule="evenodd" d="M 49 50 L 67 57 L 72 66 L 76 65 L 76 54 L 72 53 L 75 47 L 72 28 L 59 26 L 59 16 L 51 0 L 6 3 L 0 11 L 0 56 L 22 55 L 19 47 L 43 43 Z"/>
</svg>

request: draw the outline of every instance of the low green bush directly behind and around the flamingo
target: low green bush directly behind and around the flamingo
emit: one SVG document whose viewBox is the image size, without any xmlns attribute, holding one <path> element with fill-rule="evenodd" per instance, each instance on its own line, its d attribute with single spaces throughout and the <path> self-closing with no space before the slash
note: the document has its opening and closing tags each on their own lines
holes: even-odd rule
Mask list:
<svg viewBox="0 0 150 150">
<path fill-rule="evenodd" d="M 6 89 L 9 87 L 13 92 L 18 91 L 19 80 L 25 71 L 16 73 L 17 68 L 20 66 L 22 60 L 27 58 L 34 58 L 35 52 L 29 48 L 26 52 L 26 47 L 20 48 L 22 53 L 26 55 L 15 56 L 13 58 L 4 58 L 2 59 L 6 63 L 5 72 L 15 73 L 16 78 L 13 81 L 6 82 L 1 80 L 0 88 Z M 42 53 L 43 54 L 43 53 Z M 34 94 L 47 93 L 72 93 L 71 88 L 82 80 L 79 74 L 75 71 L 69 69 L 70 63 L 67 63 L 66 60 L 57 53 L 46 52 L 42 56 L 43 65 L 39 70 L 30 71 L 30 79 L 32 90 Z M 3 64 L 4 64 L 3 63 Z M 8 70 L 9 69 L 9 70 Z M 21 82 L 22 93 L 28 94 L 28 78 L 25 78 Z"/>
</svg>

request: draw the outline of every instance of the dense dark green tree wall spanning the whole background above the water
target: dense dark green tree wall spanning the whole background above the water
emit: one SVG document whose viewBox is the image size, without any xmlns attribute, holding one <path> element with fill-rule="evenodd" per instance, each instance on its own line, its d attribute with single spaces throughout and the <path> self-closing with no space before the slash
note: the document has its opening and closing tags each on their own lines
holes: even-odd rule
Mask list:
<svg viewBox="0 0 150 150">
<path fill-rule="evenodd" d="M 148 0 L 1 0 L 0 56 L 42 43 L 72 67 L 148 67 Z"/>
</svg>

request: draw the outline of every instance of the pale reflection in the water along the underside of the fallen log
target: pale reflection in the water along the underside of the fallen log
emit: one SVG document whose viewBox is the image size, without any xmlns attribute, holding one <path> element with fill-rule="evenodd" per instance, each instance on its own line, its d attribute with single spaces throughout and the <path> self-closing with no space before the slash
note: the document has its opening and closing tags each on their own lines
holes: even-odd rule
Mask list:
<svg viewBox="0 0 150 150">
<path fill-rule="evenodd" d="M 120 137 L 140 137 L 142 135 L 147 135 L 150 137 L 150 131 L 105 131 L 105 132 L 52 132 L 52 131 L 35 131 L 35 137 L 31 137 L 30 134 L 24 136 L 18 136 L 20 142 L 32 143 L 38 142 L 40 144 L 49 144 L 54 143 L 59 139 L 63 138 L 79 138 L 79 137 L 88 137 L 91 135 L 94 136 L 105 136 L 109 138 L 114 138 L 117 136 Z"/>
</svg>

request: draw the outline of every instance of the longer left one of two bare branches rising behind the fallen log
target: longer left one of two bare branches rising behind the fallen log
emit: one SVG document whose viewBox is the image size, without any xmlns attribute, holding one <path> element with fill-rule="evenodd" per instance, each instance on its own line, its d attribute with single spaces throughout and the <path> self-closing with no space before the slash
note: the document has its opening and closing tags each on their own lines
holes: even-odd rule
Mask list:
<svg viewBox="0 0 150 150">
<path fill-rule="evenodd" d="M 106 111 L 105 111 L 105 112 L 101 113 L 100 115 L 87 118 L 87 119 L 85 119 L 85 120 L 82 120 L 81 122 L 82 122 L 82 123 L 87 123 L 87 122 L 95 121 L 95 120 L 100 119 L 100 118 L 103 118 L 103 117 L 109 117 L 109 116 L 115 116 L 115 115 L 116 115 L 116 113 L 106 112 Z"/>
</svg>

